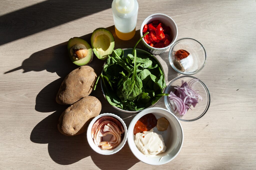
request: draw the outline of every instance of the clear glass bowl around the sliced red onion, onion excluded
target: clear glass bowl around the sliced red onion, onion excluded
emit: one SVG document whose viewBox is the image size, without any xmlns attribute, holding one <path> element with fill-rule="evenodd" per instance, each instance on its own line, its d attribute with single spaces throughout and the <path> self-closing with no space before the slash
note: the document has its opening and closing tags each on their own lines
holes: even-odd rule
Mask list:
<svg viewBox="0 0 256 170">
<path fill-rule="evenodd" d="M 170 84 L 165 88 L 164 93 L 169 94 L 171 91 L 175 92 L 176 89 L 174 87 L 177 87 L 177 85 L 181 86 L 181 84 L 182 84 L 181 81 L 182 80 L 184 82 L 188 83 L 191 79 L 194 79 L 194 78 L 196 78 L 196 77 L 193 77 L 193 76 L 177 77 L 174 80 L 172 80 L 170 82 Z M 191 122 L 191 121 L 198 120 L 202 116 L 204 116 L 205 113 L 207 112 L 207 110 L 209 109 L 209 106 L 210 106 L 210 92 L 209 92 L 207 86 L 202 81 L 199 80 L 193 88 L 195 90 L 199 90 L 198 94 L 200 96 L 202 96 L 203 100 L 201 101 L 200 99 L 198 99 L 199 103 L 195 106 L 195 108 L 192 107 L 193 108 L 192 110 L 188 109 L 188 111 L 185 115 L 180 115 L 178 112 L 175 113 L 175 111 L 173 110 L 173 108 L 170 104 L 168 96 L 164 96 L 165 107 L 170 112 L 172 112 L 179 120 L 186 121 L 186 122 Z"/>
</svg>

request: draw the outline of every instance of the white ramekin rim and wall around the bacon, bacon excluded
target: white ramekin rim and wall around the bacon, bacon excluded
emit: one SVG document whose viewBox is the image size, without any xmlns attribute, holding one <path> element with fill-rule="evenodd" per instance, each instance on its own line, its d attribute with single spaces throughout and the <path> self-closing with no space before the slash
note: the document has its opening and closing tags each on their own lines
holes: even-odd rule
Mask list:
<svg viewBox="0 0 256 170">
<path fill-rule="evenodd" d="M 117 120 L 119 120 L 119 121 L 122 123 L 123 128 L 124 128 L 124 133 L 121 135 L 121 138 L 122 138 L 121 143 L 120 143 L 117 147 L 112 148 L 112 149 L 108 149 L 108 150 L 103 150 L 103 149 L 101 149 L 101 147 L 96 146 L 95 143 L 94 143 L 94 141 L 93 141 L 93 139 L 92 139 L 92 136 L 91 136 L 91 130 L 92 130 L 93 124 L 94 124 L 99 118 L 101 118 L 101 117 L 103 117 L 103 116 L 111 116 L 111 117 L 116 118 Z M 123 136 L 123 137 L 122 137 L 122 136 Z M 123 146 L 124 146 L 126 140 L 127 140 L 127 127 L 126 127 L 124 121 L 123 121 L 119 116 L 114 115 L 114 114 L 112 114 L 112 113 L 103 113 L 103 114 L 100 114 L 100 115 L 96 116 L 94 119 L 92 119 L 92 121 L 90 122 L 90 124 L 89 124 L 89 126 L 88 126 L 88 129 L 87 129 L 87 141 L 88 141 L 90 147 L 91 147 L 95 152 L 97 152 L 97 153 L 99 153 L 99 154 L 102 154 L 102 155 L 112 155 L 112 154 L 114 154 L 114 153 L 120 151 L 120 150 L 123 148 Z"/>
</svg>

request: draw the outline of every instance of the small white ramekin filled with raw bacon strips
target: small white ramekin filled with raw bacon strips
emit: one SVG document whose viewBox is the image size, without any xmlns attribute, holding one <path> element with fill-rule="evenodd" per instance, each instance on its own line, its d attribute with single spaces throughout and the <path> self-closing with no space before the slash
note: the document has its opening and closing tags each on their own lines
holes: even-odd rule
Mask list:
<svg viewBox="0 0 256 170">
<path fill-rule="evenodd" d="M 87 129 L 91 148 L 102 155 L 120 151 L 127 140 L 127 128 L 117 115 L 104 113 L 92 119 Z"/>
</svg>

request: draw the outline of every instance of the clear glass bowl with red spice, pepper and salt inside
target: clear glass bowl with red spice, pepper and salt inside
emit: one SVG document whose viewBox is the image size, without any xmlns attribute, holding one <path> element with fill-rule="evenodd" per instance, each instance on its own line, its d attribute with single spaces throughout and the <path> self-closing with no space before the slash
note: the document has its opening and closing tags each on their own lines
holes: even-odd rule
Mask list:
<svg viewBox="0 0 256 170">
<path fill-rule="evenodd" d="M 179 39 L 170 48 L 169 62 L 173 69 L 180 74 L 196 74 L 205 66 L 205 48 L 195 39 Z"/>
</svg>

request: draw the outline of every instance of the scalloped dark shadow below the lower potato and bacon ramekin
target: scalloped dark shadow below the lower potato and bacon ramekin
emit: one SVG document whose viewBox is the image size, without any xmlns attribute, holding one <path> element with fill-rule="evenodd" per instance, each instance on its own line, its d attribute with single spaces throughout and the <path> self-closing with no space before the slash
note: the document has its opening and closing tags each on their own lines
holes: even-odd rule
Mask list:
<svg viewBox="0 0 256 170">
<path fill-rule="evenodd" d="M 116 169 L 129 169 L 139 162 L 130 151 L 127 143 L 118 153 L 100 155 L 90 148 L 86 139 L 86 132 L 77 136 L 65 136 L 61 134 L 57 128 L 61 112 L 56 111 L 40 121 L 30 135 L 30 140 L 34 143 L 48 143 L 49 155 L 56 163 L 69 165 L 91 156 L 95 165 L 101 169 L 111 169 L 113 165 Z M 125 164 L 120 160 L 124 160 Z"/>
</svg>

